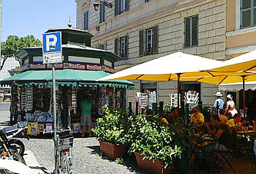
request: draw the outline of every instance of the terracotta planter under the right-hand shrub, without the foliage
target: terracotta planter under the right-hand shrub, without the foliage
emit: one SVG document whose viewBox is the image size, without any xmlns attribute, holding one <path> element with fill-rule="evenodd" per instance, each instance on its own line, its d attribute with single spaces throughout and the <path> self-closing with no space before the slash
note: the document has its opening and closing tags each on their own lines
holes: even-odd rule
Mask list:
<svg viewBox="0 0 256 174">
<path fill-rule="evenodd" d="M 162 167 L 162 165 L 164 164 L 163 161 L 156 159 L 155 163 L 153 163 L 153 160 L 149 160 L 149 159 L 143 159 L 143 155 L 139 154 L 139 153 L 135 153 L 136 156 L 136 160 L 138 163 L 138 166 L 141 169 L 145 169 L 148 172 L 151 173 L 159 173 L 159 174 L 167 174 L 167 173 L 171 173 L 171 167 L 165 169 Z"/>
</svg>

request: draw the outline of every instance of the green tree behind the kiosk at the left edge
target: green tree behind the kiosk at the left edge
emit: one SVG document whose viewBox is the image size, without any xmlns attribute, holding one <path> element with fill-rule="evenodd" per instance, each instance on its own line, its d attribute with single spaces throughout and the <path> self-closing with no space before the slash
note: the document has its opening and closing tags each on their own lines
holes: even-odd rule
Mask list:
<svg viewBox="0 0 256 174">
<path fill-rule="evenodd" d="M 42 46 L 42 42 L 36 39 L 33 35 L 28 35 L 24 38 L 18 38 L 15 35 L 9 35 L 6 41 L 2 42 L 1 47 L 1 60 L 0 71 L 4 67 L 5 61 L 8 57 L 15 57 L 15 53 L 22 48 L 30 48 L 35 46 Z M 22 60 L 19 57 L 15 57 L 16 61 L 22 66 Z"/>
</svg>

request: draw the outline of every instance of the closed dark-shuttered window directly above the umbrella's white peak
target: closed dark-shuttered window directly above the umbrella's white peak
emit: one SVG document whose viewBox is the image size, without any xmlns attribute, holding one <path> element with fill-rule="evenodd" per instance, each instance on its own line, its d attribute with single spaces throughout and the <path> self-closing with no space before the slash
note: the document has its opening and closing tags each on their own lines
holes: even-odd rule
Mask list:
<svg viewBox="0 0 256 174">
<path fill-rule="evenodd" d="M 198 15 L 185 18 L 185 48 L 198 45 Z"/>
</svg>

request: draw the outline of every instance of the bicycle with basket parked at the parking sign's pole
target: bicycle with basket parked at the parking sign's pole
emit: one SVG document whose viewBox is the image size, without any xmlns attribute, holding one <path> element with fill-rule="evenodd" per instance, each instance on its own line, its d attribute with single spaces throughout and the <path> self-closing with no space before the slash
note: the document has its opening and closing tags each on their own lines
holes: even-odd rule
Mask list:
<svg viewBox="0 0 256 174">
<path fill-rule="evenodd" d="M 71 165 L 72 165 L 72 147 L 74 136 L 71 135 L 70 128 L 68 130 L 59 130 L 57 131 L 57 141 L 53 138 L 55 142 L 55 171 L 54 173 L 60 173 L 60 170 L 63 173 L 71 174 Z M 43 133 L 54 133 L 53 131 Z"/>
</svg>

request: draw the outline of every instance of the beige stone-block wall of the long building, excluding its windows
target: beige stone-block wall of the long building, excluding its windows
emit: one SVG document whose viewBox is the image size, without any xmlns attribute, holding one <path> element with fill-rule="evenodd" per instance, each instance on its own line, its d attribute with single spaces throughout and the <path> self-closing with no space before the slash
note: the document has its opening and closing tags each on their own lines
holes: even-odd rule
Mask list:
<svg viewBox="0 0 256 174">
<path fill-rule="evenodd" d="M 78 6 L 82 2 L 84 0 L 78 1 Z M 109 2 L 114 2 L 114 0 Z M 88 7 L 88 31 L 95 34 L 95 37 L 92 38 L 92 46 L 107 42 L 107 49 L 114 52 L 115 38 L 128 34 L 128 60 L 118 61 L 115 64 L 117 71 L 178 50 L 216 60 L 225 59 L 226 0 L 152 0 L 148 3 L 144 2 L 144 0 L 131 0 L 130 10 L 117 17 L 114 17 L 114 8 L 106 8 L 107 20 L 101 24 L 98 24 L 98 11 L 93 10 L 92 3 Z M 78 7 L 77 14 L 83 14 L 83 10 Z M 191 15 L 198 15 L 198 47 L 184 48 L 184 18 Z M 142 29 L 155 25 L 159 26 L 159 53 L 139 57 L 138 33 Z M 100 31 L 95 30 L 96 26 L 100 28 Z M 77 27 L 83 28 L 83 18 L 77 18 Z M 139 85 L 136 81 L 135 90 L 128 90 L 128 101 L 132 101 L 134 107 L 135 94 L 140 89 Z M 218 88 L 214 85 L 201 84 L 203 103 L 213 104 L 214 94 L 217 90 Z M 168 94 L 176 91 L 176 81 L 159 82 L 158 101 L 169 103 Z"/>
</svg>

